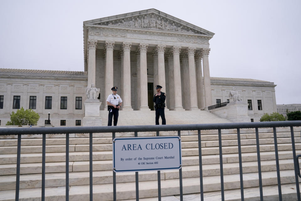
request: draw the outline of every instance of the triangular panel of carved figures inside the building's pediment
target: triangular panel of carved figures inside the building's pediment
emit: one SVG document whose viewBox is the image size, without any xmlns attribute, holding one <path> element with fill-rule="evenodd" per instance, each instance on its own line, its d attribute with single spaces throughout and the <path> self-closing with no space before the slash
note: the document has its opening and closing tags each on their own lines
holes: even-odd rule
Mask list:
<svg viewBox="0 0 301 201">
<path fill-rule="evenodd" d="M 107 22 L 98 23 L 99 25 L 121 26 L 121 27 L 136 27 L 153 30 L 170 30 L 187 33 L 204 34 L 198 30 L 193 30 L 190 27 L 179 24 L 171 19 L 167 19 L 157 14 L 139 15 L 131 18 L 117 19 Z"/>
</svg>

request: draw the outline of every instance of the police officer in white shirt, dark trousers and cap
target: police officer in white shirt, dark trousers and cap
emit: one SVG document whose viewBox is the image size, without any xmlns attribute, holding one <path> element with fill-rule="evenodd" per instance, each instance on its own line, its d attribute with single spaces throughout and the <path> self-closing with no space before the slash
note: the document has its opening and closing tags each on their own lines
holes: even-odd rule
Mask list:
<svg viewBox="0 0 301 201">
<path fill-rule="evenodd" d="M 112 126 L 112 117 L 114 116 L 114 126 L 117 126 L 119 108 L 121 107 L 122 100 L 120 96 L 117 94 L 118 87 L 112 87 L 112 94 L 110 94 L 107 98 L 108 104 L 108 126 Z"/>
</svg>

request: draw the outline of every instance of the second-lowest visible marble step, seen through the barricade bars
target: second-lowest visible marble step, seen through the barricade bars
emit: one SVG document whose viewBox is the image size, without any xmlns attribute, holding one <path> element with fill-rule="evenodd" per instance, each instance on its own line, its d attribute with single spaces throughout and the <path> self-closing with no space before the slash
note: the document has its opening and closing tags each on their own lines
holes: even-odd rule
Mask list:
<svg viewBox="0 0 301 201">
<path fill-rule="evenodd" d="M 292 184 L 295 182 L 294 170 L 280 171 L 281 183 Z M 244 187 L 258 186 L 258 173 L 245 173 Z M 262 184 L 264 186 L 277 184 L 276 171 L 262 172 Z M 183 178 L 183 193 L 199 193 L 200 192 L 199 177 Z M 240 175 L 224 175 L 224 189 L 240 188 Z M 133 199 L 135 198 L 135 182 L 117 183 L 117 199 Z M 157 181 L 139 182 L 139 197 L 148 198 L 158 195 Z M 220 176 L 203 177 L 204 192 L 212 192 L 220 190 Z M 88 185 L 71 186 L 69 189 L 69 199 L 72 201 L 89 200 L 90 187 Z M 2 201 L 13 200 L 15 197 L 14 190 L 1 191 Z M 177 195 L 179 194 L 179 179 L 161 180 L 161 195 Z M 20 199 L 39 199 L 41 196 L 41 188 L 20 189 Z M 47 187 L 45 189 L 45 197 L 48 200 L 65 199 L 65 187 Z M 113 184 L 94 184 L 93 197 L 97 200 L 113 200 Z"/>
</svg>

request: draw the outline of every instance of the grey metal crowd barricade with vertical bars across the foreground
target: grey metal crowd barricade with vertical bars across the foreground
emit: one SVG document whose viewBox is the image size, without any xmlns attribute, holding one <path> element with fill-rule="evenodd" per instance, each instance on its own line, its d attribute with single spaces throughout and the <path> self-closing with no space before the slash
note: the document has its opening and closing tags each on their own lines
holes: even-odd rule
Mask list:
<svg viewBox="0 0 301 201">
<path fill-rule="evenodd" d="M 23 134 L 42 134 L 42 193 L 41 200 L 45 200 L 45 138 L 46 134 L 66 134 L 66 200 L 69 200 L 69 133 L 89 133 L 89 160 L 90 160 L 90 200 L 93 200 L 93 181 L 92 181 L 92 137 L 93 133 L 112 133 L 112 139 L 115 138 L 115 133 L 119 132 L 134 132 L 135 137 L 138 136 L 138 132 L 156 132 L 159 136 L 160 131 L 177 131 L 178 136 L 181 137 L 181 131 L 197 130 L 198 131 L 198 151 L 199 151 L 199 171 L 200 171 L 200 197 L 201 201 L 203 198 L 203 174 L 202 174 L 202 149 L 201 149 L 201 130 L 218 130 L 219 139 L 219 160 L 220 160 L 220 185 L 221 185 L 221 200 L 224 200 L 224 174 L 223 174 L 223 156 L 222 156 L 222 129 L 237 129 L 237 140 L 238 140 L 238 156 L 239 156 L 239 172 L 240 172 L 240 193 L 241 200 L 244 200 L 244 188 L 243 188 L 243 172 L 242 172 L 242 159 L 241 159 L 241 146 L 240 146 L 240 129 L 241 128 L 255 128 L 256 132 L 256 150 L 257 150 L 257 161 L 258 161 L 258 176 L 259 176 L 259 190 L 260 200 L 263 200 L 262 193 L 262 179 L 261 179 L 261 161 L 260 161 L 260 150 L 259 150 L 259 134 L 258 128 L 273 128 L 274 144 L 275 144 L 275 155 L 276 155 L 276 169 L 277 169 L 277 182 L 278 182 L 278 195 L 279 200 L 282 200 L 281 192 L 281 180 L 280 180 L 280 169 L 277 149 L 277 133 L 276 127 L 290 127 L 292 148 L 293 148 L 293 162 L 295 169 L 295 182 L 296 182 L 296 193 L 298 201 L 300 199 L 300 189 L 298 174 L 299 164 L 295 150 L 294 130 L 293 127 L 301 126 L 301 121 L 284 121 L 284 122 L 247 122 L 247 123 L 217 123 L 217 124 L 185 124 L 185 125 L 145 125 L 145 126 L 108 126 L 108 127 L 65 127 L 65 128 L 2 128 L 0 129 L 0 135 L 18 135 L 18 147 L 17 147 L 17 171 L 16 171 L 16 195 L 15 200 L 19 199 L 19 181 L 20 181 L 20 152 L 21 152 L 21 136 Z M 139 200 L 139 186 L 138 186 L 138 172 L 136 176 L 136 200 Z M 180 200 L 183 200 L 183 187 L 182 187 L 182 169 L 179 170 L 180 179 Z M 113 171 L 113 198 L 116 200 L 116 173 Z M 158 200 L 161 200 L 161 178 L 160 171 L 158 171 Z"/>
</svg>

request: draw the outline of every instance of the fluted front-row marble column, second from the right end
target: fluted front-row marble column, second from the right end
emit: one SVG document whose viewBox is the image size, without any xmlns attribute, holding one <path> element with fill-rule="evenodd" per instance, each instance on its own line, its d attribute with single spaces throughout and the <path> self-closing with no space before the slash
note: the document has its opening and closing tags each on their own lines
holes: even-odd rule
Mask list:
<svg viewBox="0 0 301 201">
<path fill-rule="evenodd" d="M 194 62 L 194 52 L 195 47 L 188 47 L 188 71 L 189 71 L 189 97 L 190 97 L 190 107 L 189 110 L 198 110 L 198 93 L 197 93 L 197 81 L 195 76 L 195 62 Z"/>
</svg>

